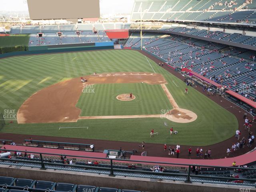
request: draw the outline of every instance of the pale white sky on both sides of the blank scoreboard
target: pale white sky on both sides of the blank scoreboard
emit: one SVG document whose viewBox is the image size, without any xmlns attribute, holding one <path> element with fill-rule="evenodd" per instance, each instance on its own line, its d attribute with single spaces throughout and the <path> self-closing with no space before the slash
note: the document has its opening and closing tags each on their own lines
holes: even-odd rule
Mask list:
<svg viewBox="0 0 256 192">
<path fill-rule="evenodd" d="M 74 0 L 70 0 L 75 2 Z M 42 0 L 44 2 L 44 0 Z M 134 0 L 100 0 L 101 14 L 131 13 Z M 1 11 L 28 11 L 26 0 L 0 0 Z"/>
</svg>

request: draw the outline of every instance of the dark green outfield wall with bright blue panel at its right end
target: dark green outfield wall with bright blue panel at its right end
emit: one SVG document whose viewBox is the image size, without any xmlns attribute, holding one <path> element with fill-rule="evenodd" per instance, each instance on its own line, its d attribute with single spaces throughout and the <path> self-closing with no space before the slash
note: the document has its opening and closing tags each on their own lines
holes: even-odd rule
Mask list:
<svg viewBox="0 0 256 192">
<path fill-rule="evenodd" d="M 86 50 L 102 50 L 114 49 L 114 42 L 95 42 L 95 43 L 81 43 L 81 44 L 62 44 L 62 45 L 44 45 L 44 46 L 29 46 L 28 51 L 9 52 L 0 54 L 0 58 L 31 55 L 31 54 L 48 54 L 59 52 L 74 52 Z"/>
</svg>

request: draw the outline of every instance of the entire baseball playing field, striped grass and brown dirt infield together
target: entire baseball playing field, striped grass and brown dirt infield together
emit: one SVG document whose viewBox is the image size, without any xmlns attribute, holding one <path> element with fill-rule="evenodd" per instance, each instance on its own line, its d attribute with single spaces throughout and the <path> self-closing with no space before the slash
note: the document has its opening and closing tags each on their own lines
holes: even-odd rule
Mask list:
<svg viewBox="0 0 256 192">
<path fill-rule="evenodd" d="M 5 58 L 0 112 L 8 118 L 1 132 L 194 146 L 232 137 L 236 117 L 194 88 L 184 94 L 185 88 L 134 50 Z M 133 100 L 118 99 L 130 93 Z M 178 134 L 170 136 L 170 127 Z M 152 129 L 158 136 L 150 138 Z"/>
</svg>

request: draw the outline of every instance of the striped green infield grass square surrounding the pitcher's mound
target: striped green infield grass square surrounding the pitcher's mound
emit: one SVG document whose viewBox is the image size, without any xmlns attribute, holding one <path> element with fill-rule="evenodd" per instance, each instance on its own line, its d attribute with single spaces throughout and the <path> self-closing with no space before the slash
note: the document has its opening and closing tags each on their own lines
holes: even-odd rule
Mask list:
<svg viewBox="0 0 256 192">
<path fill-rule="evenodd" d="M 76 105 L 82 109 L 80 116 L 148 115 L 160 114 L 162 109 L 172 109 L 160 85 L 96 84 L 92 88 L 92 93 L 82 93 Z M 136 96 L 134 100 L 116 99 L 116 96 L 130 92 Z"/>
</svg>

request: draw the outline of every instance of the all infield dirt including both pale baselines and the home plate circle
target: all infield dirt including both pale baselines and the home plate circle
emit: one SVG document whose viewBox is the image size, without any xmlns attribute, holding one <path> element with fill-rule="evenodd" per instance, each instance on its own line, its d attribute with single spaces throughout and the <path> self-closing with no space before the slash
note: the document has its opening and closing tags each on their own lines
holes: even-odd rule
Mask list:
<svg viewBox="0 0 256 192">
<path fill-rule="evenodd" d="M 166 80 L 161 74 L 145 72 L 119 72 L 95 74 L 85 77 L 82 83 L 74 78 L 46 87 L 28 98 L 17 113 L 18 123 L 77 122 L 78 119 L 119 119 L 119 118 L 167 118 L 173 122 L 188 123 L 196 120 L 197 115 L 189 110 L 180 109 L 166 87 Z M 173 110 L 166 114 L 121 115 L 121 116 L 80 116 L 81 109 L 76 107 L 83 88 L 92 84 L 138 83 L 161 84 Z M 130 96 L 130 94 L 124 94 Z M 121 100 L 122 95 L 117 96 Z M 134 98 L 135 99 L 135 96 Z M 129 99 L 128 100 L 133 100 Z M 127 101 L 128 101 L 127 100 Z"/>
</svg>

